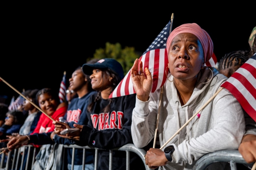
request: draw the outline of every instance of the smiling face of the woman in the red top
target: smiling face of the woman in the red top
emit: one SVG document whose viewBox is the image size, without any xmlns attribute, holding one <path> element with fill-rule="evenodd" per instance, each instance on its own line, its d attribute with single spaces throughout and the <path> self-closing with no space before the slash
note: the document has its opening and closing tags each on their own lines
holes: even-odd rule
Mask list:
<svg viewBox="0 0 256 170">
<path fill-rule="evenodd" d="M 52 115 L 58 107 L 58 102 L 50 94 L 44 93 L 38 97 L 38 103 L 43 112 Z"/>
</svg>

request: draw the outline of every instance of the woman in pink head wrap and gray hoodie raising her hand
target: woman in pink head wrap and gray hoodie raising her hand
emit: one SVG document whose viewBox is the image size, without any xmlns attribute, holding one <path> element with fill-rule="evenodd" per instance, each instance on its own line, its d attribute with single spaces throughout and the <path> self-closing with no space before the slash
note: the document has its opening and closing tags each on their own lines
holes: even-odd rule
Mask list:
<svg viewBox="0 0 256 170">
<path fill-rule="evenodd" d="M 161 89 L 150 93 L 152 76 L 148 68 L 145 68 L 145 74 L 139 74 L 143 72 L 142 62 L 138 63 L 136 59 L 131 68 L 137 94 L 131 134 L 139 148 L 154 138 L 158 108 L 158 133 L 160 146 L 163 146 L 227 80 L 215 68 L 204 67 L 212 56 L 213 43 L 209 34 L 195 23 L 183 24 L 171 32 L 167 52 L 168 81 L 163 86 L 162 95 Z M 242 108 L 235 97 L 223 89 L 163 150 L 149 149 L 145 162 L 150 168 L 192 169 L 195 162 L 207 153 L 238 149 L 244 133 Z M 222 165 L 223 162 L 210 166 L 216 169 Z"/>
</svg>

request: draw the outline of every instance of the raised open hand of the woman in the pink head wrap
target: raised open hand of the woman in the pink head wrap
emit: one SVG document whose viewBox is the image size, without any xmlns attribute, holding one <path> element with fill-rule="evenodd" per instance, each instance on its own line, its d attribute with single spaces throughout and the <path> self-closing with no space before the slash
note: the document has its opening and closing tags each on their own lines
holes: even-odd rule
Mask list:
<svg viewBox="0 0 256 170">
<path fill-rule="evenodd" d="M 152 90 L 152 76 L 148 68 L 145 68 L 145 74 L 143 73 L 143 63 L 140 61 L 138 69 L 139 60 L 134 61 L 133 67 L 131 68 L 131 80 L 133 82 L 134 90 L 136 91 L 138 99 L 143 102 L 148 101 L 149 94 Z"/>
</svg>

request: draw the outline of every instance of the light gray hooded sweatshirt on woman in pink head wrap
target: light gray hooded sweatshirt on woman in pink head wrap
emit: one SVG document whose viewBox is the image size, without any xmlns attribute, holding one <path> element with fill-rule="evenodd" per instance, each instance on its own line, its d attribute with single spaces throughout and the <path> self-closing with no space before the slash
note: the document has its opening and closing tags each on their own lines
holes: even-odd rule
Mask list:
<svg viewBox="0 0 256 170">
<path fill-rule="evenodd" d="M 202 69 L 208 70 L 209 69 Z M 189 101 L 181 106 L 174 81 L 166 81 L 163 87 L 158 133 L 160 146 L 163 146 L 190 117 L 221 88 L 227 77 L 204 71 L 197 77 L 197 84 Z M 173 80 L 173 76 L 169 80 Z M 136 147 L 146 146 L 155 135 L 155 127 L 160 101 L 161 88 L 142 102 L 136 98 L 133 109 L 131 134 Z M 217 150 L 236 150 L 245 134 L 244 114 L 239 102 L 225 88 L 222 89 L 206 107 L 195 116 L 165 147 L 173 145 L 172 162 L 163 166 L 166 170 L 192 169 L 203 155 Z M 165 148 L 164 147 L 164 148 Z M 164 148 L 162 150 L 164 150 Z M 216 169 L 221 163 L 212 164 Z"/>
</svg>

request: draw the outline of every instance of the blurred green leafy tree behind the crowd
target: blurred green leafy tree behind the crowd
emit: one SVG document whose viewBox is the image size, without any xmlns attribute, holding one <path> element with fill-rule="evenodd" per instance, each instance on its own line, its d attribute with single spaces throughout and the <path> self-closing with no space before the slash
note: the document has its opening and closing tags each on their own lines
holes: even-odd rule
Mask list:
<svg viewBox="0 0 256 170">
<path fill-rule="evenodd" d="M 136 58 L 140 58 L 142 53 L 136 52 L 134 47 L 125 47 L 122 49 L 120 43 L 111 44 L 109 42 L 106 43 L 105 49 L 99 48 L 95 50 L 93 54 L 93 58 L 103 59 L 103 58 L 113 58 L 116 59 L 123 67 L 124 75 L 128 73 L 128 71 L 133 66 Z M 88 58 L 87 61 L 93 59 Z"/>
</svg>

